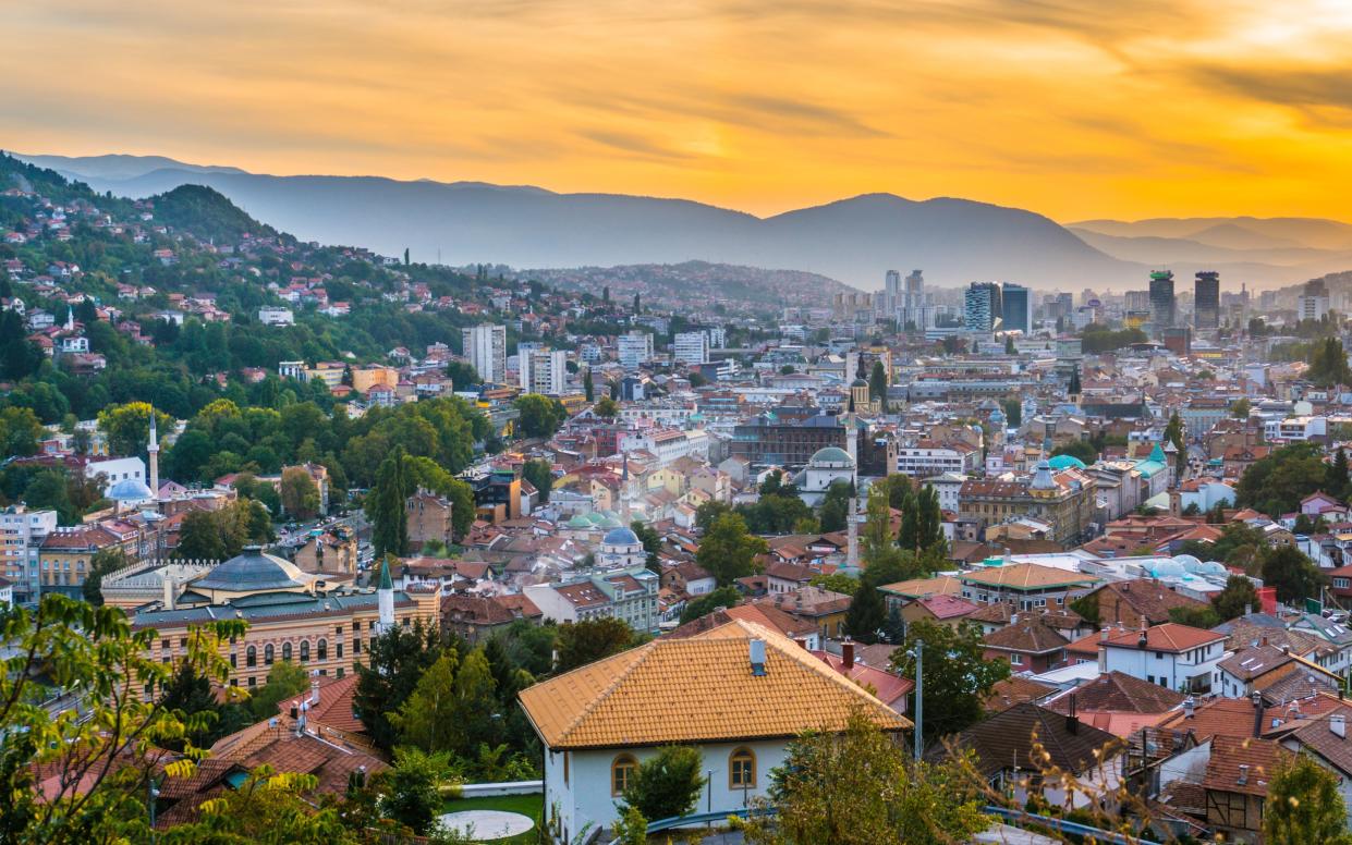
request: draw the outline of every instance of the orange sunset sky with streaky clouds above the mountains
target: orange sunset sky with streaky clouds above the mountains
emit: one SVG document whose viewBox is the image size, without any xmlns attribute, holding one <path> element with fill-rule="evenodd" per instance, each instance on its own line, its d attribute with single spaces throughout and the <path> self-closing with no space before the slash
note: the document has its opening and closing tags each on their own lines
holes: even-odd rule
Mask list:
<svg viewBox="0 0 1352 845">
<path fill-rule="evenodd" d="M 1352 218 L 1352 0 L 0 0 L 0 146 Z"/>
</svg>

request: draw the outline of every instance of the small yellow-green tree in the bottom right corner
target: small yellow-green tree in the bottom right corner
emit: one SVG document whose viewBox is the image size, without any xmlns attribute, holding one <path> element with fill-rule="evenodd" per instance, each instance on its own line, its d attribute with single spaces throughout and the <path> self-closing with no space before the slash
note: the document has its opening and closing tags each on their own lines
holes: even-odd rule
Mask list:
<svg viewBox="0 0 1352 845">
<path fill-rule="evenodd" d="M 1267 845 L 1349 845 L 1338 777 L 1310 754 L 1291 754 L 1271 773 L 1263 814 Z"/>
</svg>

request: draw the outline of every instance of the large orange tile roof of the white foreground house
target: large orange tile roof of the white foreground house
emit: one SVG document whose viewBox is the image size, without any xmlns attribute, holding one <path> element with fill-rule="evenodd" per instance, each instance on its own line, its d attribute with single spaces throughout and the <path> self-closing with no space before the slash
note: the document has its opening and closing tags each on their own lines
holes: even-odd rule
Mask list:
<svg viewBox="0 0 1352 845">
<path fill-rule="evenodd" d="M 752 673 L 752 639 L 765 673 Z M 911 722 L 792 639 L 741 619 L 690 638 L 654 639 L 521 694 L 553 749 L 794 737 L 842 730 L 854 708 L 886 730 Z"/>
</svg>

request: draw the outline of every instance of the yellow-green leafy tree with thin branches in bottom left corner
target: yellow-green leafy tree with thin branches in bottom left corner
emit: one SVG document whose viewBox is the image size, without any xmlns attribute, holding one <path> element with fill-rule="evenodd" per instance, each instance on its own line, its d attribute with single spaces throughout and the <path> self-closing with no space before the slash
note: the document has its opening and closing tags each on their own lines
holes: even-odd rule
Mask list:
<svg viewBox="0 0 1352 845">
<path fill-rule="evenodd" d="M 226 642 L 243 633 L 242 621 L 206 622 L 181 654 L 161 662 L 151 656 L 158 631 L 132 631 L 120 608 L 58 594 L 45 594 L 37 610 L 9 608 L 0 617 L 12 654 L 0 673 L 0 841 L 150 841 L 145 773 L 162 763 L 160 749 L 210 726 L 208 714 L 165 707 L 162 692 L 184 665 L 224 684 Z M 78 687 L 84 718 L 53 718 L 38 704 L 50 694 L 42 683 Z M 191 740 L 183 748 L 168 777 L 192 776 L 206 754 Z"/>
</svg>

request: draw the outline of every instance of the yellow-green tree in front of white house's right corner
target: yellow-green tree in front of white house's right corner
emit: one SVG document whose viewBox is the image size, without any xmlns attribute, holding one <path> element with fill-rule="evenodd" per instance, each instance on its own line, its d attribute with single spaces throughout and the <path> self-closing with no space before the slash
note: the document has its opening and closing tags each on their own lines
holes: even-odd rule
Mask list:
<svg viewBox="0 0 1352 845">
<path fill-rule="evenodd" d="M 926 711 L 926 717 L 929 713 Z M 749 845 L 946 845 L 990 826 L 968 757 L 932 765 L 854 713 L 844 733 L 794 740 L 771 773 L 777 819 L 733 819 Z"/>
</svg>

